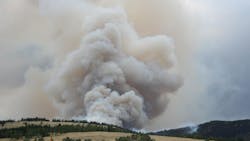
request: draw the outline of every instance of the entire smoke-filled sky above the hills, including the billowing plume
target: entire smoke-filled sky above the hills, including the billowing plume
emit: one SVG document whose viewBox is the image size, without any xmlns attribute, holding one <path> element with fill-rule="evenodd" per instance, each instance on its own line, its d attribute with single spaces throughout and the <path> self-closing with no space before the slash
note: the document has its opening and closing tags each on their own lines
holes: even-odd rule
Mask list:
<svg viewBox="0 0 250 141">
<path fill-rule="evenodd" d="M 244 0 L 1 0 L 0 119 L 247 118 L 249 13 Z"/>
</svg>

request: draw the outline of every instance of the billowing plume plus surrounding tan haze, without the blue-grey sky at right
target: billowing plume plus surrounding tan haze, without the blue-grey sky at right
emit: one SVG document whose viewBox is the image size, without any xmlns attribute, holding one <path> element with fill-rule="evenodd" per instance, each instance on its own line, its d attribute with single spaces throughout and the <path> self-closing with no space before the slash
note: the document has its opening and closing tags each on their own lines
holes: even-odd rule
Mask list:
<svg viewBox="0 0 250 141">
<path fill-rule="evenodd" d="M 185 118 L 170 107 L 183 74 L 194 73 L 194 36 L 179 8 L 172 0 L 0 1 L 0 119 L 162 128 Z"/>
</svg>

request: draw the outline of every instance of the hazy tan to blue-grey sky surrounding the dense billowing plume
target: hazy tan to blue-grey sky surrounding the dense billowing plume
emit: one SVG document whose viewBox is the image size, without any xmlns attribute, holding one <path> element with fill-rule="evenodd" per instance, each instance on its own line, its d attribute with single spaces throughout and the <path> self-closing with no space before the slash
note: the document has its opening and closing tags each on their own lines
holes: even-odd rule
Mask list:
<svg viewBox="0 0 250 141">
<path fill-rule="evenodd" d="M 79 21 L 88 13 L 78 14 L 81 0 L 60 0 L 48 9 L 41 1 L 0 1 L 0 119 L 58 116 L 42 85 L 55 62 L 77 48 L 72 46 L 81 40 Z M 184 83 L 147 128 L 250 118 L 248 0 L 100 3 L 123 7 L 139 35 L 167 34 L 175 43 Z"/>
</svg>

